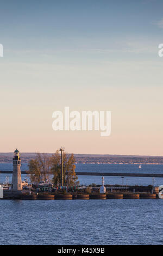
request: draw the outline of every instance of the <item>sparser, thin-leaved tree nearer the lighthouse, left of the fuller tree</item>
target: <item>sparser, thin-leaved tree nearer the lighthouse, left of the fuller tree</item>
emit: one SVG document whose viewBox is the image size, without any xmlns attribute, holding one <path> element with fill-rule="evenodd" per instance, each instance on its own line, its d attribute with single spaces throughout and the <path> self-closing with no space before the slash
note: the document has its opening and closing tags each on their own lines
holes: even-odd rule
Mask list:
<svg viewBox="0 0 163 256">
<path fill-rule="evenodd" d="M 49 179 L 50 158 L 45 153 L 37 153 L 35 159 L 28 163 L 28 174 L 32 182 L 39 183 Z"/>
</svg>

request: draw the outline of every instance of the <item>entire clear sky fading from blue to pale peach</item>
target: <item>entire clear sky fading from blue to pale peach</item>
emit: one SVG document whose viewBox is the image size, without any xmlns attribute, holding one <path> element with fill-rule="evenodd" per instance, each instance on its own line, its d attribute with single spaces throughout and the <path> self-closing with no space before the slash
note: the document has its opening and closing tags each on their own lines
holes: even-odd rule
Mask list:
<svg viewBox="0 0 163 256">
<path fill-rule="evenodd" d="M 162 0 L 1 1 L 0 151 L 163 156 Z M 111 135 L 54 111 L 111 111 Z"/>
</svg>

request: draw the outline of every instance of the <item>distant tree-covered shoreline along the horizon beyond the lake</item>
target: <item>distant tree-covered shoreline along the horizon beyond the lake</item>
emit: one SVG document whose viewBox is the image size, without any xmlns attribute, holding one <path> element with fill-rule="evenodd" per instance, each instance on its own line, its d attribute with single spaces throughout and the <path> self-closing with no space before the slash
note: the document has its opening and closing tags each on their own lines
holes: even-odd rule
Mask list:
<svg viewBox="0 0 163 256">
<path fill-rule="evenodd" d="M 48 154 L 52 156 L 52 154 Z M 28 163 L 36 153 L 21 153 L 22 163 Z M 13 153 L 0 153 L 1 163 L 12 163 Z M 129 163 L 129 164 L 163 164 L 163 157 L 159 156 L 122 156 L 122 155 L 84 155 L 74 154 L 77 163 Z"/>
</svg>

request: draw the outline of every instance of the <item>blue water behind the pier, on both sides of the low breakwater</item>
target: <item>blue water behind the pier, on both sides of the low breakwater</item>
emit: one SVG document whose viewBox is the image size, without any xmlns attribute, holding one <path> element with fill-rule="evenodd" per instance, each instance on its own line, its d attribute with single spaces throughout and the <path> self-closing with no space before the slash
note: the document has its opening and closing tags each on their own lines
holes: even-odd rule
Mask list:
<svg viewBox="0 0 163 256">
<path fill-rule="evenodd" d="M 22 170 L 28 169 L 28 164 L 23 163 Z M 11 163 L 0 163 L 0 170 L 12 170 Z M 112 172 L 112 173 L 154 173 L 163 174 L 162 164 L 142 164 L 142 169 L 139 169 L 139 164 L 77 164 L 78 172 Z M 0 174 L 0 183 L 5 181 L 5 177 L 9 176 L 11 182 L 12 174 Z M 27 174 L 22 174 L 22 180 L 27 178 Z M 92 183 L 101 184 L 101 176 L 78 176 L 80 185 L 89 185 Z M 120 184 L 122 185 L 142 185 L 148 186 L 153 184 L 152 178 L 148 177 L 121 177 L 105 176 L 105 184 Z M 163 178 L 155 178 L 155 186 L 163 185 Z"/>
</svg>

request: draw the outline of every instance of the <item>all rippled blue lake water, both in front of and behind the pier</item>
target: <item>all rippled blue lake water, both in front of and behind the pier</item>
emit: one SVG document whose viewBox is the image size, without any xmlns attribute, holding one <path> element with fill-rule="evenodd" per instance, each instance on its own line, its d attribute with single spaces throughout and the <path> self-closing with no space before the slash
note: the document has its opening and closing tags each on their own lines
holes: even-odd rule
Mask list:
<svg viewBox="0 0 163 256">
<path fill-rule="evenodd" d="M 12 170 L 12 164 L 1 163 L 0 170 Z M 163 173 L 163 166 L 77 164 L 77 170 Z M 0 182 L 5 176 L 0 174 Z M 100 176 L 79 180 L 101 184 Z M 155 180 L 163 185 L 163 179 Z M 123 182 L 149 185 L 152 178 L 125 177 Z M 105 183 L 122 184 L 122 179 L 106 176 Z M 0 200 L 0 245 L 161 245 L 162 206 L 161 199 Z"/>
</svg>

